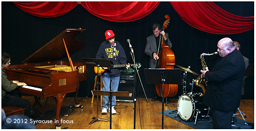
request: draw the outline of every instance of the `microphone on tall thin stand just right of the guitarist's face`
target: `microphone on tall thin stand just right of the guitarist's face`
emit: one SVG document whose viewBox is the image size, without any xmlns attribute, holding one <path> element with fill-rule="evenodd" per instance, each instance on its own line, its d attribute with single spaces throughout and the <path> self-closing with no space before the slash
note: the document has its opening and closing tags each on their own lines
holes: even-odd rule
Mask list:
<svg viewBox="0 0 256 131">
<path fill-rule="evenodd" d="M 128 41 L 127 41 L 128 42 Z M 131 54 L 131 56 L 132 56 L 132 60 L 133 60 L 133 63 L 134 63 L 134 68 L 135 68 L 135 78 L 134 78 L 134 80 L 135 80 L 135 90 L 134 90 L 134 124 L 133 124 L 133 128 L 134 129 L 136 129 L 136 101 L 137 101 L 137 78 L 136 78 L 136 73 L 138 73 L 138 76 L 139 76 L 139 72 L 138 72 L 138 69 L 137 69 L 137 66 L 136 66 L 136 64 L 135 64 L 135 56 L 134 56 L 134 53 L 133 53 L 133 49 L 132 49 L 132 45 L 130 44 L 130 42 L 129 42 L 129 46 L 130 46 L 130 48 L 131 48 L 131 51 L 130 51 L 130 54 Z M 144 91 L 144 94 L 145 94 L 145 97 L 146 97 L 146 93 L 145 93 L 145 90 L 144 90 L 144 87 L 143 87 L 143 85 L 142 85 L 142 82 L 141 82 L 141 79 L 140 79 L 140 77 L 139 77 L 139 80 L 140 80 L 140 83 L 141 83 L 141 86 L 142 86 L 142 89 L 143 89 L 143 91 Z M 146 97 L 146 102 L 148 102 L 148 100 L 147 100 L 147 97 Z"/>
</svg>

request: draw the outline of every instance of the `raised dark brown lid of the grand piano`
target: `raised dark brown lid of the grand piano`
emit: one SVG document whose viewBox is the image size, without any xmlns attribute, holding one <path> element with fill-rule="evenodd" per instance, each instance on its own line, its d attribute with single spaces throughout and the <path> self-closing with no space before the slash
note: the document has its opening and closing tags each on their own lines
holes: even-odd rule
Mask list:
<svg viewBox="0 0 256 131">
<path fill-rule="evenodd" d="M 63 38 L 69 54 L 72 55 L 85 45 L 84 42 L 74 39 L 75 36 L 82 33 L 84 30 L 85 29 L 65 29 L 28 58 L 24 59 L 22 63 L 48 62 L 66 58 L 67 53 Z"/>
</svg>

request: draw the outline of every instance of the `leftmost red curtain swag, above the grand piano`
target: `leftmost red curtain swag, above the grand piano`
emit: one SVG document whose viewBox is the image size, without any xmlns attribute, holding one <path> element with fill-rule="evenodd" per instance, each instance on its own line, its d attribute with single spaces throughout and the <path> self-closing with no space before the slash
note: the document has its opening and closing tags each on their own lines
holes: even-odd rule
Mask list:
<svg viewBox="0 0 256 131">
<path fill-rule="evenodd" d="M 78 2 L 13 2 L 23 11 L 39 17 L 64 15 L 78 5 Z"/>
</svg>

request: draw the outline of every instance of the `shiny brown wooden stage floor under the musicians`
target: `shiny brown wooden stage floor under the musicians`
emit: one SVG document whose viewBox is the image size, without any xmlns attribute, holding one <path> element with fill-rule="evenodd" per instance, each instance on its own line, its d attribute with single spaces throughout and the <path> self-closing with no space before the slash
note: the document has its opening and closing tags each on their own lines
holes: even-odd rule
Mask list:
<svg viewBox="0 0 256 131">
<path fill-rule="evenodd" d="M 31 102 L 31 107 L 34 103 L 33 96 L 23 96 Z M 73 105 L 73 97 L 64 98 L 62 108 L 60 110 L 59 121 L 62 122 L 62 127 L 68 129 L 110 129 L 110 123 L 105 121 L 97 121 L 93 124 L 89 124 L 93 117 L 97 116 L 97 101 L 94 99 L 94 103 L 91 104 L 92 98 L 78 98 L 80 105 L 83 108 L 71 108 Z M 164 110 L 177 109 L 178 99 L 169 99 L 171 103 L 164 106 Z M 46 98 L 41 99 L 42 108 Z M 152 102 L 145 98 L 139 98 L 136 102 L 136 129 L 161 129 L 162 116 L 158 111 L 162 110 L 162 103 Z M 110 114 L 101 114 L 101 104 L 99 99 L 99 118 L 110 120 Z M 116 115 L 112 115 L 112 129 L 134 129 L 134 103 L 117 102 L 115 109 Z M 52 120 L 53 123 L 37 124 L 36 129 L 55 129 L 56 119 L 56 105 L 55 100 L 52 97 L 48 98 L 46 104 L 44 118 L 41 120 Z M 247 116 L 246 121 L 254 123 L 254 100 L 241 100 L 239 109 Z M 241 118 L 241 115 L 236 115 Z M 64 123 L 65 122 L 65 123 Z M 168 116 L 164 116 L 164 129 L 194 129 L 186 124 L 182 124 Z"/>
</svg>

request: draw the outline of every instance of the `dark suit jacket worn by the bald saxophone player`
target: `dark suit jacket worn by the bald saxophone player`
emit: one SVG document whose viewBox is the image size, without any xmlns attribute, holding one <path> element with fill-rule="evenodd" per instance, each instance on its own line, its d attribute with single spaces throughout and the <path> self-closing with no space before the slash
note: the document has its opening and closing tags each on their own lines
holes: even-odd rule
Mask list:
<svg viewBox="0 0 256 131">
<path fill-rule="evenodd" d="M 241 85 L 245 73 L 242 54 L 234 50 L 224 58 L 219 58 L 211 72 L 205 73 L 208 81 L 204 104 L 220 111 L 232 111 L 240 106 Z"/>
</svg>

